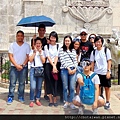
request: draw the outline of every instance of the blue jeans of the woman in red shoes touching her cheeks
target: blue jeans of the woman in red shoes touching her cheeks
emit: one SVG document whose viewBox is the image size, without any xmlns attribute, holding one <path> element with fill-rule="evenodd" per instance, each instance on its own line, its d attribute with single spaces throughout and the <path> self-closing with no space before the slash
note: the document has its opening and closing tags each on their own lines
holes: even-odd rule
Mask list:
<svg viewBox="0 0 120 120">
<path fill-rule="evenodd" d="M 43 67 L 40 67 L 43 69 Z M 30 101 L 40 99 L 43 77 L 34 77 L 34 68 L 30 68 Z"/>
</svg>

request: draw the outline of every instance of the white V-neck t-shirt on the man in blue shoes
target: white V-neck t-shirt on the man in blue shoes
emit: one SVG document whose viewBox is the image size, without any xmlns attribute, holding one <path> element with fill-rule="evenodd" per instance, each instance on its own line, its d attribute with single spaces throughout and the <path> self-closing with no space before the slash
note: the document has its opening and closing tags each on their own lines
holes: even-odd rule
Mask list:
<svg viewBox="0 0 120 120">
<path fill-rule="evenodd" d="M 19 46 L 17 42 L 13 42 L 9 47 L 9 53 L 13 54 L 13 58 L 17 64 L 22 65 L 27 58 L 26 55 L 30 53 L 30 45 L 24 42 Z M 11 63 L 11 66 L 14 65 Z"/>
</svg>

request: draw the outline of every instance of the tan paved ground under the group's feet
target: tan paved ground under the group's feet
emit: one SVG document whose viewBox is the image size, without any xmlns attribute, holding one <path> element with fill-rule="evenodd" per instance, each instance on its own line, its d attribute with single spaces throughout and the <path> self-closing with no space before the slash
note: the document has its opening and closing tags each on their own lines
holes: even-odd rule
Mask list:
<svg viewBox="0 0 120 120">
<path fill-rule="evenodd" d="M 29 91 L 25 92 L 25 103 L 22 104 L 17 99 L 17 92 L 15 92 L 15 99 L 11 105 L 6 104 L 8 92 L 5 89 L 0 89 L 0 114 L 21 114 L 21 115 L 76 115 L 78 113 L 78 108 L 71 110 L 71 108 L 64 109 L 63 104 L 59 102 L 58 97 L 58 107 L 49 107 L 49 102 L 41 98 L 42 106 L 37 106 L 34 104 L 33 108 L 29 107 Z M 110 114 L 120 114 L 119 105 L 120 105 L 120 92 L 111 91 L 111 109 L 105 110 L 104 107 L 98 109 L 98 113 L 101 115 L 110 115 Z M 85 105 L 84 114 L 92 114 L 91 106 Z"/>
</svg>

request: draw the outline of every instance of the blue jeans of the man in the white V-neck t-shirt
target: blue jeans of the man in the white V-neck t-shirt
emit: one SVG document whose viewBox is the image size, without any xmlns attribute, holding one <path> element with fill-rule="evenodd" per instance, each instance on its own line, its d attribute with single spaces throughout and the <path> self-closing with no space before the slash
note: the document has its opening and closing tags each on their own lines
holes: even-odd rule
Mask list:
<svg viewBox="0 0 120 120">
<path fill-rule="evenodd" d="M 25 89 L 25 80 L 26 80 L 26 73 L 27 67 L 24 67 L 21 71 L 18 71 L 16 67 L 11 66 L 10 68 L 10 85 L 9 85 L 9 94 L 8 97 L 12 97 L 14 99 L 14 91 L 16 82 L 18 79 L 18 99 L 24 98 L 24 89 Z"/>
</svg>

